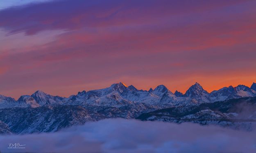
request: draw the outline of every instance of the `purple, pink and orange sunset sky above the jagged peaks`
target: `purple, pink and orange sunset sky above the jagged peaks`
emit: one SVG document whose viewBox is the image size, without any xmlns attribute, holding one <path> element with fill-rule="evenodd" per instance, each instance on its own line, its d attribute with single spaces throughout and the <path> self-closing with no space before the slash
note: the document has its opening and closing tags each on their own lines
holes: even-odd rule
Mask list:
<svg viewBox="0 0 256 153">
<path fill-rule="evenodd" d="M 0 94 L 256 82 L 255 0 L 1 0 Z"/>
</svg>

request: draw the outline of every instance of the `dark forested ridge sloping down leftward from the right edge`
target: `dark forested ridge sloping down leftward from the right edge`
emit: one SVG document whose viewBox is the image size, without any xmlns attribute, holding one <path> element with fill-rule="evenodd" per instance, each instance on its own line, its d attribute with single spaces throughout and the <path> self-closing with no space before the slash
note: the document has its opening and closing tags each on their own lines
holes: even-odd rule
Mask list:
<svg viewBox="0 0 256 153">
<path fill-rule="evenodd" d="M 160 109 L 143 113 L 137 119 L 217 124 L 233 129 L 251 130 L 256 125 L 256 97 Z"/>
</svg>

